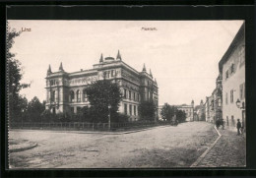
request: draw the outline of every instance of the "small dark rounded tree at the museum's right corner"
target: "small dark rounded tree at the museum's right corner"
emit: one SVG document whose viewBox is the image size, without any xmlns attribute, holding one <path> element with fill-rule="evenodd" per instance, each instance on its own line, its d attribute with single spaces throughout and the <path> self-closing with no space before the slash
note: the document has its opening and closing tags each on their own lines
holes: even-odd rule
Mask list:
<svg viewBox="0 0 256 178">
<path fill-rule="evenodd" d="M 142 101 L 139 105 L 139 114 L 143 120 L 154 121 L 157 107 L 153 101 Z"/>
</svg>

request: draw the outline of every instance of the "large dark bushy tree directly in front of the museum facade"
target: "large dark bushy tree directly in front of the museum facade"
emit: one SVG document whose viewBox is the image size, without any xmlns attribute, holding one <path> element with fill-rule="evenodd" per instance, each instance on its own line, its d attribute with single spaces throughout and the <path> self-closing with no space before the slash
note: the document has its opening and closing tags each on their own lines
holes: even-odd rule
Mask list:
<svg viewBox="0 0 256 178">
<path fill-rule="evenodd" d="M 87 90 L 88 99 L 91 104 L 91 116 L 94 122 L 108 121 L 108 106 L 111 116 L 117 114 L 122 93 L 116 83 L 108 80 L 96 81 Z"/>
</svg>

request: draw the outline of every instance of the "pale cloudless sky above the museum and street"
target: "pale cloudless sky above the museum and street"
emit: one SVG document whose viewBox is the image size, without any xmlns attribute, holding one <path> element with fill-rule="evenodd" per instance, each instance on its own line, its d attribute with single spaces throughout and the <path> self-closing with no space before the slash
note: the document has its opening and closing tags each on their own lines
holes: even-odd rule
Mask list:
<svg viewBox="0 0 256 178">
<path fill-rule="evenodd" d="M 21 94 L 46 99 L 49 64 L 57 72 L 92 69 L 103 57 L 116 57 L 141 72 L 152 70 L 159 86 L 159 104 L 205 101 L 216 87 L 219 61 L 243 21 L 8 21 L 23 31 L 11 51 L 21 61 Z M 145 30 L 152 28 L 154 30 Z"/>
</svg>

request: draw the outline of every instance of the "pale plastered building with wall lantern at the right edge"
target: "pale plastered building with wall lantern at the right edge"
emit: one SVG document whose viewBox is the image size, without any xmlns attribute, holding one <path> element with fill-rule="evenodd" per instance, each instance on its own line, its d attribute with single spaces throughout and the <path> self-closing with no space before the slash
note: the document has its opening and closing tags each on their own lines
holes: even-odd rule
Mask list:
<svg viewBox="0 0 256 178">
<path fill-rule="evenodd" d="M 223 117 L 226 126 L 235 128 L 237 119 L 245 127 L 245 34 L 244 24 L 219 63 L 223 76 Z"/>
</svg>

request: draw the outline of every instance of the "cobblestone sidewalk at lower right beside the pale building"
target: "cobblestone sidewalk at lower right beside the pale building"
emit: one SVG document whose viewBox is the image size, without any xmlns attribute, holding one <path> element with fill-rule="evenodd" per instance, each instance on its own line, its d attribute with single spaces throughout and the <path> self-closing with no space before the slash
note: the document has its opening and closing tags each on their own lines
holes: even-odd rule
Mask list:
<svg viewBox="0 0 256 178">
<path fill-rule="evenodd" d="M 246 141 L 236 132 L 222 130 L 222 137 L 196 167 L 244 167 L 246 165 Z"/>
</svg>

